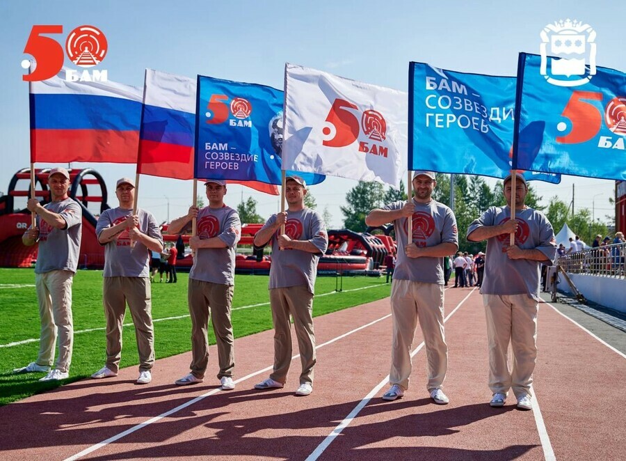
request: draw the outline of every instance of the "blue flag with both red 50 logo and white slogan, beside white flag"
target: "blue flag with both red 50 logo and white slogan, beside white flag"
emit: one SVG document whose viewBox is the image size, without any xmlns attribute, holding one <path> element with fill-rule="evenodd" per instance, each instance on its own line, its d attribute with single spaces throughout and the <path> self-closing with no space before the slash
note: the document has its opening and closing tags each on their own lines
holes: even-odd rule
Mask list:
<svg viewBox="0 0 626 461">
<path fill-rule="evenodd" d="M 195 178 L 280 185 L 283 92 L 198 75 Z M 297 174 L 307 184 L 326 177 Z"/>
</svg>

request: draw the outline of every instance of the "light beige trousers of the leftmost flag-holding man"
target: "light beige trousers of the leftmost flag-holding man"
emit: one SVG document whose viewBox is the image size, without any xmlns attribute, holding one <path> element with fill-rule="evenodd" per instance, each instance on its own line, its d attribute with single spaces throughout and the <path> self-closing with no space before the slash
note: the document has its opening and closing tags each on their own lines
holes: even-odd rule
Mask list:
<svg viewBox="0 0 626 461">
<path fill-rule="evenodd" d="M 53 270 L 35 274 L 35 290 L 39 300 L 41 333 L 37 364 L 52 366 L 54 343 L 58 336 L 58 356 L 54 368 L 67 373 L 72 362 L 74 325 L 72 322 L 72 281 L 74 273 Z"/>
</svg>

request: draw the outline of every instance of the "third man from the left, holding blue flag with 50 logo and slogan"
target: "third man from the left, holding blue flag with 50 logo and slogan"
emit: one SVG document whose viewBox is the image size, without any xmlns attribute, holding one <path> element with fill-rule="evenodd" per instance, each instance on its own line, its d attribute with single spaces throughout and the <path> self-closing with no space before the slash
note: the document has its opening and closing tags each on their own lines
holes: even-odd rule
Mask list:
<svg viewBox="0 0 626 461">
<path fill-rule="evenodd" d="M 234 389 L 234 339 L 230 313 L 241 221 L 236 210 L 224 204 L 226 183 L 223 180 L 207 180 L 204 186 L 209 206 L 202 210 L 192 206 L 184 217 L 172 221 L 168 228 L 168 233 L 176 234 L 194 218 L 198 220 L 197 233 L 189 239 L 189 246 L 195 250 L 187 291 L 191 314 L 191 373 L 175 384 L 185 386 L 204 381 L 209 364 L 207 329 L 211 318 L 218 347 L 218 380 L 222 390 L 227 391 Z"/>
</svg>

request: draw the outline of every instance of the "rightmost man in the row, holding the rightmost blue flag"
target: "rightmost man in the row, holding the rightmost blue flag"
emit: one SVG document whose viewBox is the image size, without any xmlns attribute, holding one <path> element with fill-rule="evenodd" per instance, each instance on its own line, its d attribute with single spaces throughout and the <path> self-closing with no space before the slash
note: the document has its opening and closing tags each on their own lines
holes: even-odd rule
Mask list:
<svg viewBox="0 0 626 461">
<path fill-rule="evenodd" d="M 516 174 L 504 178 L 506 206 L 490 207 L 467 229 L 467 240 L 487 240 L 485 274 L 481 284 L 487 318 L 490 405 L 502 407 L 513 388 L 517 408 L 532 409 L 533 370 L 537 361 L 539 269 L 552 265 L 556 255 L 554 231 L 543 213 L 524 204 L 528 186 Z M 515 219 L 511 219 L 511 197 Z M 515 244 L 509 245 L 515 234 Z M 508 345 L 513 348 L 513 370 L 508 368 Z"/>
</svg>

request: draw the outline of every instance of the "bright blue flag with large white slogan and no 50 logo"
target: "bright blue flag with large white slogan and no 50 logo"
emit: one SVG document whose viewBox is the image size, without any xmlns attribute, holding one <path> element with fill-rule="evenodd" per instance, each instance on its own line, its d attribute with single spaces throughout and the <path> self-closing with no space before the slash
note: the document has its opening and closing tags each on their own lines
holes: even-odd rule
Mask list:
<svg viewBox="0 0 626 461">
<path fill-rule="evenodd" d="M 511 171 L 515 77 L 410 63 L 410 170 L 504 178 Z M 524 171 L 527 180 L 560 175 Z"/>
</svg>

